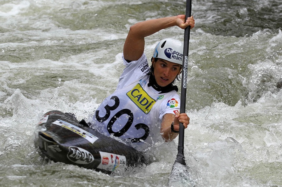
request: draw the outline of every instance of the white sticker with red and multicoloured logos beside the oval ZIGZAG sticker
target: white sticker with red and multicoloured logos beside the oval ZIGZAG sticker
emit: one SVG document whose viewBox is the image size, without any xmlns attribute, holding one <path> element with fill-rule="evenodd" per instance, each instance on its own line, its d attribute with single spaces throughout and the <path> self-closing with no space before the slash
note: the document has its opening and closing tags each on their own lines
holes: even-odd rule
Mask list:
<svg viewBox="0 0 282 187">
<path fill-rule="evenodd" d="M 126 158 L 123 155 L 116 155 L 99 151 L 101 155 L 101 163 L 97 168 L 102 170 L 114 171 L 126 167 Z"/>
</svg>

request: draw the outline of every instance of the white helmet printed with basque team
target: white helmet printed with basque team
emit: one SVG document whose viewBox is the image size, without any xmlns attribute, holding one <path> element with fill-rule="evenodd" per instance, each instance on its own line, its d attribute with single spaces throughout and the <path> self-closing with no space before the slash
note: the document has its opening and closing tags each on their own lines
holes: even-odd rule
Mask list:
<svg viewBox="0 0 282 187">
<path fill-rule="evenodd" d="M 183 42 L 172 38 L 165 38 L 156 45 L 153 57 L 182 65 Z"/>
</svg>

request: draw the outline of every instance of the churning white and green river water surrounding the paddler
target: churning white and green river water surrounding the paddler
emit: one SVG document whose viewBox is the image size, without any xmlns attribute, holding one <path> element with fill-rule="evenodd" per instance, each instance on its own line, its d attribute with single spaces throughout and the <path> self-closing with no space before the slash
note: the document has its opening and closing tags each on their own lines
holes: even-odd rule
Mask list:
<svg viewBox="0 0 282 187">
<path fill-rule="evenodd" d="M 156 162 L 106 175 L 47 162 L 33 132 L 47 111 L 90 116 L 123 70 L 129 27 L 185 13 L 185 1 L 0 1 L 0 186 L 166 186 L 178 139 Z M 196 186 L 282 186 L 282 2 L 193 0 L 185 158 Z M 145 53 L 169 28 L 146 38 Z M 180 86 L 180 82 L 177 83 Z"/>
</svg>

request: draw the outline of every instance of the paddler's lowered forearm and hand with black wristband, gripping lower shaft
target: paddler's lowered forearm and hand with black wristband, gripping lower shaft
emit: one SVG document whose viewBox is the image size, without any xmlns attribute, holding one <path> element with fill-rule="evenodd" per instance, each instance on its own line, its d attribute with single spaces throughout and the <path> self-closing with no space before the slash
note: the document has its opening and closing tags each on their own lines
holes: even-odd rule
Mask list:
<svg viewBox="0 0 282 187">
<path fill-rule="evenodd" d="M 166 141 L 171 141 L 178 136 L 177 132 L 171 130 L 171 124 L 173 122 L 173 130 L 179 131 L 179 123 L 183 123 L 184 129 L 187 128 L 190 118 L 186 113 L 176 113 L 174 114 L 165 114 L 161 123 L 161 135 Z"/>
</svg>

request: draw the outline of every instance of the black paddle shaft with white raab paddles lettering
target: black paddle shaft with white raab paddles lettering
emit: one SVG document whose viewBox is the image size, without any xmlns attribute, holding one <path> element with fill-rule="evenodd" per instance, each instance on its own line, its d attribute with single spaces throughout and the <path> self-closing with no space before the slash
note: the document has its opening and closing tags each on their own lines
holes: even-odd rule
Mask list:
<svg viewBox="0 0 282 187">
<path fill-rule="evenodd" d="M 191 17 L 191 7 L 192 7 L 192 0 L 186 0 L 186 12 L 185 12 L 186 19 L 188 17 Z M 190 40 L 190 26 L 186 27 L 184 31 L 180 114 L 185 113 L 185 105 L 186 105 L 189 40 Z M 183 126 L 183 123 L 179 124 L 178 154 L 177 154 L 176 160 L 178 160 L 180 164 L 186 165 L 185 160 L 184 160 L 184 126 Z"/>
</svg>

